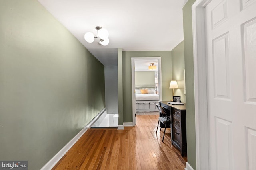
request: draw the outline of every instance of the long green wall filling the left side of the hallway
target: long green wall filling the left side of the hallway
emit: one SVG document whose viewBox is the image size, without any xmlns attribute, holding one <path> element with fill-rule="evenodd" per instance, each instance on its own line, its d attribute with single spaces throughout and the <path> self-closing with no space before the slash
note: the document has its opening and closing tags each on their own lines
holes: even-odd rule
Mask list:
<svg viewBox="0 0 256 170">
<path fill-rule="evenodd" d="M 0 1 L 0 160 L 42 168 L 104 94 L 104 66 L 38 1 Z"/>
</svg>

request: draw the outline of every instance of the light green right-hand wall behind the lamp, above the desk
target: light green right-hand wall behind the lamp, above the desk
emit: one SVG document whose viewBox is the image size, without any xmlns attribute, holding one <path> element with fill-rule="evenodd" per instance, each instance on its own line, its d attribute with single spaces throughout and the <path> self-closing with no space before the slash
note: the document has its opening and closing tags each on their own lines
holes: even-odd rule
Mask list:
<svg viewBox="0 0 256 170">
<path fill-rule="evenodd" d="M 180 100 L 186 103 L 184 94 L 184 41 L 172 49 L 172 80 L 177 80 L 178 89 L 174 89 L 174 96 L 180 96 Z"/>
</svg>

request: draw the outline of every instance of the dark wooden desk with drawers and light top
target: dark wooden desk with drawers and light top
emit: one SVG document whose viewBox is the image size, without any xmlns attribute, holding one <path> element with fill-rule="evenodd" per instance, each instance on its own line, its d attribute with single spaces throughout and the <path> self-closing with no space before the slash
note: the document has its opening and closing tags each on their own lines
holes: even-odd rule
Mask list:
<svg viewBox="0 0 256 170">
<path fill-rule="evenodd" d="M 187 152 L 186 104 L 172 105 L 167 102 L 169 101 L 159 101 L 159 104 L 171 115 L 172 145 L 180 150 L 180 153 L 183 156 Z"/>
</svg>

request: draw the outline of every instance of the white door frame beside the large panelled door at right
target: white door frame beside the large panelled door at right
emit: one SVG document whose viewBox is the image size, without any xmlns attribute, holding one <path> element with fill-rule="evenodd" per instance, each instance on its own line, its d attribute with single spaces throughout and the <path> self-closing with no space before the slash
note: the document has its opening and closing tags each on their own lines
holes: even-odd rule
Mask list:
<svg viewBox="0 0 256 170">
<path fill-rule="evenodd" d="M 209 169 L 208 108 L 206 78 L 206 28 L 204 7 L 211 0 L 196 0 L 192 5 L 194 55 L 194 99 L 196 125 L 196 168 Z"/>
</svg>

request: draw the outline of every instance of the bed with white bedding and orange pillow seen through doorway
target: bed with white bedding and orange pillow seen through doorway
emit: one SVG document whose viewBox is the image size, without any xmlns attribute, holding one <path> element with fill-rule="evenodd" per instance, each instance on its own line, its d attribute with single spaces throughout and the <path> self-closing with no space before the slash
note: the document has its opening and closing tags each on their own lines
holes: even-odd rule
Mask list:
<svg viewBox="0 0 256 170">
<path fill-rule="evenodd" d="M 156 86 L 136 86 L 135 98 L 137 112 L 158 111 L 156 104 L 159 104 L 159 95 Z"/>
</svg>

